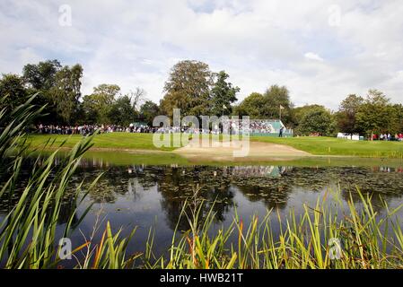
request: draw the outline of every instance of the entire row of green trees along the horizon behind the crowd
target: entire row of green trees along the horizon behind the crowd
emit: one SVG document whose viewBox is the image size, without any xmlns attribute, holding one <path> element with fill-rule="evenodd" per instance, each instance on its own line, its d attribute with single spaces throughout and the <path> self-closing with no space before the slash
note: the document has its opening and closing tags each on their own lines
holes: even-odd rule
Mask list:
<svg viewBox="0 0 403 287">
<path fill-rule="evenodd" d="M 280 117 L 295 135 L 397 134 L 403 131 L 403 106 L 391 103 L 381 91 L 370 90 L 362 97 L 350 94 L 336 111 L 313 104 L 294 107 L 285 86 L 271 85 L 264 92 L 252 92 L 240 103 L 240 88 L 229 82 L 225 71 L 212 72 L 206 63 L 180 61 L 171 68 L 160 102 L 146 100 L 137 87 L 122 94 L 117 84 L 101 83 L 89 95 L 82 95 L 82 65 L 61 65 L 57 60 L 28 64 L 22 74 L 3 74 L 0 94 L 7 95 L 1 105 L 20 105 L 39 92 L 35 103 L 46 105 L 42 123 L 59 125 L 115 124 L 128 126 L 135 121 L 152 125 L 153 117 L 181 115 Z M 280 109 L 281 107 L 281 109 Z"/>
</svg>

